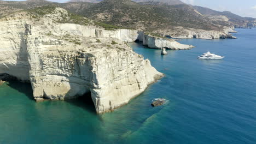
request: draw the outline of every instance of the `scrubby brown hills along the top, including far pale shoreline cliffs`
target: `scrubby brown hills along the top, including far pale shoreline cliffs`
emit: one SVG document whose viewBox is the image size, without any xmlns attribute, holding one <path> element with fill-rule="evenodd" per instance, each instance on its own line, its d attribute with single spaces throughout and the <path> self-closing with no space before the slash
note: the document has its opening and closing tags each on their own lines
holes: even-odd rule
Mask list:
<svg viewBox="0 0 256 144">
<path fill-rule="evenodd" d="M 55 3 L 44 0 L 0 1 L 0 17 L 22 9 L 55 5 L 89 19 L 107 23 L 108 25 L 101 24 L 106 27 L 113 25 L 117 28 L 138 29 L 155 35 L 170 35 L 177 38 L 231 38 L 228 34 L 232 32 L 230 23 L 204 16 L 191 5 L 142 3 L 130 0 L 104 0 L 99 3 Z"/>
</svg>

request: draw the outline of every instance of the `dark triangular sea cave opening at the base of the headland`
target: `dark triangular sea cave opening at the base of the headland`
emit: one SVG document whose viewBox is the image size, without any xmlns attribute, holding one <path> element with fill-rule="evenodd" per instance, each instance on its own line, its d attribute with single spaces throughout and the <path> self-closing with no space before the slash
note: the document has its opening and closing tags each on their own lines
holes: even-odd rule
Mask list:
<svg viewBox="0 0 256 144">
<path fill-rule="evenodd" d="M 84 110 L 97 115 L 95 106 L 94 106 L 94 101 L 92 101 L 91 99 L 91 93 L 86 93 L 83 96 L 78 97 L 77 99 L 70 99 L 66 101 L 70 104 L 81 107 Z"/>
</svg>

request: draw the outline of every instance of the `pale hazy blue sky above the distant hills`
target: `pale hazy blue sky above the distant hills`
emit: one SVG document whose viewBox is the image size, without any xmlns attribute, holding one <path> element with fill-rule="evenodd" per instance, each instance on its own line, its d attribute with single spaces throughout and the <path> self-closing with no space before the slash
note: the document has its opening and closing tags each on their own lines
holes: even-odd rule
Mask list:
<svg viewBox="0 0 256 144">
<path fill-rule="evenodd" d="M 15 0 L 22 1 L 22 0 Z M 49 0 L 66 2 L 67 0 Z M 199 5 L 218 11 L 228 10 L 240 16 L 256 18 L 256 0 L 181 0 L 188 4 Z"/>
</svg>

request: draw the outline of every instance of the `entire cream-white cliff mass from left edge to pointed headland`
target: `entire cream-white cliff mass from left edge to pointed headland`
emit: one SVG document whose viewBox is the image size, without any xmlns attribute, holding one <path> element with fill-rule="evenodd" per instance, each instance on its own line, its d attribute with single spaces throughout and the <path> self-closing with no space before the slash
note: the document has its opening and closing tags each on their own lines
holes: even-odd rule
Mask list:
<svg viewBox="0 0 256 144">
<path fill-rule="evenodd" d="M 103 113 L 163 76 L 124 43 L 136 40 L 136 31 L 57 23 L 63 15 L 67 11 L 56 8 L 37 20 L 27 12 L 0 19 L 0 74 L 31 82 L 34 99 L 91 93 L 97 113 Z"/>
</svg>

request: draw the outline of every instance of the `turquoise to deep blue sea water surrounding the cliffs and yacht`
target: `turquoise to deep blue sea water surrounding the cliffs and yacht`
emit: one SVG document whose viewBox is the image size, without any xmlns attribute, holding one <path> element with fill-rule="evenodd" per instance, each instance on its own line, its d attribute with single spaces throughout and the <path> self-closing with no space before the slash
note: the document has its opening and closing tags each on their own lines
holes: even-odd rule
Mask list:
<svg viewBox="0 0 256 144">
<path fill-rule="evenodd" d="M 182 40 L 192 50 L 133 49 L 166 74 L 120 109 L 96 115 L 90 99 L 35 103 L 31 86 L 0 86 L 0 143 L 256 143 L 256 29 L 238 39 Z M 207 50 L 220 61 L 196 59 Z M 167 104 L 150 106 L 154 98 Z M 90 102 L 86 102 L 90 101 Z"/>
</svg>

